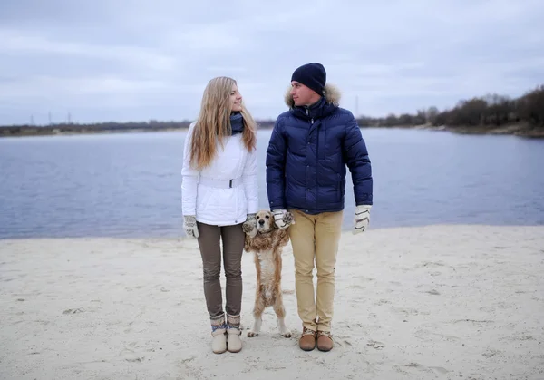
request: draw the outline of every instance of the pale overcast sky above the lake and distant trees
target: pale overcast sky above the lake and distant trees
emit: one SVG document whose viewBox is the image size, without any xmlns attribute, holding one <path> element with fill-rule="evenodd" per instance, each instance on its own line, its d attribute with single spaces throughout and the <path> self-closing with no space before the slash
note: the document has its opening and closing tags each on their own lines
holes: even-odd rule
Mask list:
<svg viewBox="0 0 544 380">
<path fill-rule="evenodd" d="M 275 119 L 303 63 L 360 115 L 544 84 L 542 0 L 1 0 L 0 124 L 193 120 L 210 78 Z"/>
</svg>

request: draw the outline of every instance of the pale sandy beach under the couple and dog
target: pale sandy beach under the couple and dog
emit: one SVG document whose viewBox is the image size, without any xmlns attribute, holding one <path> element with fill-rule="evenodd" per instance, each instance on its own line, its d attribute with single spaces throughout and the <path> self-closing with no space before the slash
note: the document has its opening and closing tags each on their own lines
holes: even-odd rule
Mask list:
<svg viewBox="0 0 544 380">
<path fill-rule="evenodd" d="M 242 323 L 252 323 L 253 257 Z M 224 285 L 224 278 L 221 279 Z M 345 232 L 329 353 L 267 309 L 238 354 L 211 353 L 191 239 L 0 240 L 2 379 L 544 379 L 544 226 Z"/>
</svg>

